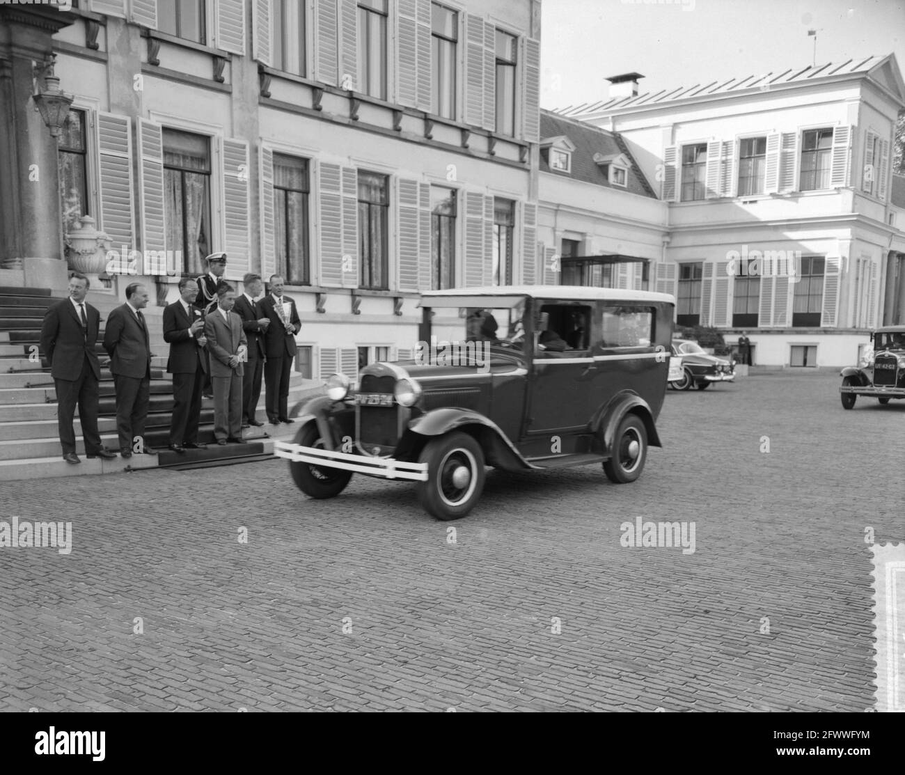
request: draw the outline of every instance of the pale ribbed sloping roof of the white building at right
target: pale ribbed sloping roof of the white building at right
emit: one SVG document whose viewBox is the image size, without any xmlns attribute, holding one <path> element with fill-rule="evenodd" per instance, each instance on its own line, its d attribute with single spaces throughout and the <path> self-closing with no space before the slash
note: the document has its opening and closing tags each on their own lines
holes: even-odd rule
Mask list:
<svg viewBox="0 0 905 775">
<path fill-rule="evenodd" d="M 700 99 L 710 95 L 730 94 L 744 91 L 767 91 L 786 84 L 795 86 L 821 79 L 838 78 L 845 75 L 870 76 L 884 88 L 898 94 L 905 100 L 905 82 L 902 81 L 899 64 L 894 54 L 885 56 L 868 56 L 861 59 L 850 59 L 847 62 L 827 62 L 816 66 L 807 65 L 799 68 L 788 68 L 785 71 L 774 71 L 747 75 L 742 78 L 720 78 L 708 83 L 696 83 L 694 86 L 680 86 L 676 89 L 646 91 L 643 94 L 611 97 L 608 100 L 584 102 L 580 105 L 569 105 L 556 110 L 563 116 L 581 116 L 591 113 L 623 110 L 625 108 L 642 108 L 674 100 Z"/>
</svg>

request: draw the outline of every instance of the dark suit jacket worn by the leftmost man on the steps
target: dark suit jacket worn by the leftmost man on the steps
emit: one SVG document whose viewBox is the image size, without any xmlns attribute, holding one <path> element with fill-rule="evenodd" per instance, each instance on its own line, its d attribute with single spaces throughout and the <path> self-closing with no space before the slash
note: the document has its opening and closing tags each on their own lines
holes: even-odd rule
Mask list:
<svg viewBox="0 0 905 775">
<path fill-rule="evenodd" d="M 88 333 L 81 329 L 81 320 L 69 299 L 63 299 L 44 312 L 41 326 L 41 351 L 51 367 L 54 379 L 75 381 L 88 357 L 94 376 L 100 379 L 100 361 L 94 351 L 100 330 L 100 312 L 85 302 Z"/>
</svg>

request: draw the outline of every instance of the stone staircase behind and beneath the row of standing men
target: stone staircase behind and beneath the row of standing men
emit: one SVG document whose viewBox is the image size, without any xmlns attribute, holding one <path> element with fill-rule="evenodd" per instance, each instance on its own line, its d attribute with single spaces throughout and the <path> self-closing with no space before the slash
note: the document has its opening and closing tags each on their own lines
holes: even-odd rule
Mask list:
<svg viewBox="0 0 905 775">
<path fill-rule="evenodd" d="M 44 311 L 59 301 L 49 290 L 0 287 L 0 481 L 34 479 L 47 476 L 77 474 L 108 474 L 159 466 L 234 463 L 243 458 L 255 459 L 271 454 L 273 442 L 291 439 L 298 426 L 281 425 L 247 428 L 243 432 L 247 445 L 214 443 L 214 402 L 205 398 L 202 404 L 199 441 L 213 444 L 206 450 L 186 450 L 176 454 L 167 450 L 170 416 L 173 407 L 171 377 L 167 374 L 169 346 L 163 340 L 163 308 L 148 307 L 151 352 L 151 395 L 148 410 L 146 441 L 160 450 L 157 455 L 133 455 L 129 460 L 89 460 L 84 456 L 78 412 L 75 418 L 77 454 L 80 465 L 62 459 L 57 432 L 56 392 L 50 368 L 39 349 Z M 99 430 L 103 444 L 116 450 L 116 398 L 113 377 L 108 366 L 109 357 L 100 345 L 103 323 L 110 310 L 121 301 L 111 295 L 89 293 L 88 301 L 100 310 L 101 335 L 97 345 L 101 363 Z M 307 395 L 323 392 L 318 380 L 303 379 L 293 374 L 290 386 L 290 407 Z M 263 390 L 258 406 L 259 421 L 265 421 Z"/>
</svg>

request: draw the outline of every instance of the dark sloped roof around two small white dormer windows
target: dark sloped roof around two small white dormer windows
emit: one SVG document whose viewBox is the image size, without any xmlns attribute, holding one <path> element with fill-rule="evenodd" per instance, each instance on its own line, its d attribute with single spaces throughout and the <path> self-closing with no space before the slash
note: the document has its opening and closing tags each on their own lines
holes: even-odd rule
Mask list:
<svg viewBox="0 0 905 775">
<path fill-rule="evenodd" d="M 575 150 L 572 151 L 572 171 L 562 172 L 558 169 L 551 169 L 548 165 L 546 154 L 542 153 L 540 155 L 541 172 L 548 172 L 550 175 L 568 177 L 573 180 L 583 180 L 586 183 L 613 188 L 616 191 L 628 191 L 639 196 L 657 198 L 653 193 L 653 188 L 647 182 L 647 178 L 643 176 L 641 169 L 628 148 L 626 148 L 625 142 L 618 132 L 600 129 L 583 121 L 565 119 L 550 110 L 541 110 L 540 137 L 552 138 L 560 136 L 567 137 L 575 145 Z M 625 186 L 614 186 L 610 183 L 603 167 L 595 162 L 595 153 L 613 157 L 624 154 L 629 158 L 632 166 L 628 169 Z"/>
</svg>

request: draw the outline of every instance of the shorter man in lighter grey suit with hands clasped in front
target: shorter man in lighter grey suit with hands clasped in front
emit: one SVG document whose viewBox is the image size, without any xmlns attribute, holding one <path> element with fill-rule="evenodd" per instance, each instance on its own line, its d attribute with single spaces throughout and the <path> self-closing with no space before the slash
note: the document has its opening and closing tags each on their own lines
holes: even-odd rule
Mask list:
<svg viewBox="0 0 905 775">
<path fill-rule="evenodd" d="M 245 444 L 242 437 L 242 378 L 248 343 L 242 330 L 242 318 L 232 311 L 235 304 L 233 286 L 221 285 L 217 300 L 217 308 L 205 316 L 214 386 L 214 435 L 219 445 L 230 441 Z"/>
</svg>

